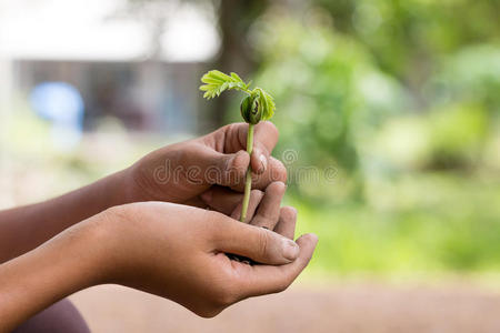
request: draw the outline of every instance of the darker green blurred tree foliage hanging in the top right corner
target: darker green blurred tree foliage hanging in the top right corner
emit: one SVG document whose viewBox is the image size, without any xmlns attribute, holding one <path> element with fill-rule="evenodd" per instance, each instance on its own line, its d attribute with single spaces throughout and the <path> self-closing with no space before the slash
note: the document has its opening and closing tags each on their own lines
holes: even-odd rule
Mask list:
<svg viewBox="0 0 500 333">
<path fill-rule="evenodd" d="M 380 69 L 406 84 L 421 107 L 422 87 L 444 54 L 467 44 L 498 42 L 499 1 L 312 0 L 338 31 L 371 52 Z"/>
</svg>

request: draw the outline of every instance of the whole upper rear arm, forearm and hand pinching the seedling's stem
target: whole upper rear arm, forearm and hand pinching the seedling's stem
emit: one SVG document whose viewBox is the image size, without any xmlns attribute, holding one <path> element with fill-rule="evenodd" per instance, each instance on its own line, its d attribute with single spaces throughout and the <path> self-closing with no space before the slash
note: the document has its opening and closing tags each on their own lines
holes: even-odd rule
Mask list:
<svg viewBox="0 0 500 333">
<path fill-rule="evenodd" d="M 272 181 L 284 182 L 284 167 L 270 157 L 278 141 L 276 127 L 270 122 L 256 127 L 251 159 L 244 152 L 247 130 L 246 123 L 226 125 L 204 137 L 153 151 L 130 168 L 68 194 L 0 211 L 0 263 L 120 204 L 167 201 L 218 210 L 224 205 L 226 196 L 234 198 L 242 191 L 249 163 L 256 170 L 253 188 L 266 189 Z M 176 170 L 178 175 L 166 181 L 166 174 Z M 210 199 L 214 190 L 219 194 Z"/>
</svg>

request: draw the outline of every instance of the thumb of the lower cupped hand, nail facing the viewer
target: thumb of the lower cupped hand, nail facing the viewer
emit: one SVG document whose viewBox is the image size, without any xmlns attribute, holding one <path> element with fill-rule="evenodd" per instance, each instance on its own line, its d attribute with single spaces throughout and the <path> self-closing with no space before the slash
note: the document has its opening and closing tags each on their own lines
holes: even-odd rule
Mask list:
<svg viewBox="0 0 500 333">
<path fill-rule="evenodd" d="M 282 235 L 219 214 L 214 221 L 213 250 L 238 254 L 256 262 L 279 265 L 294 261 L 299 246 Z"/>
</svg>

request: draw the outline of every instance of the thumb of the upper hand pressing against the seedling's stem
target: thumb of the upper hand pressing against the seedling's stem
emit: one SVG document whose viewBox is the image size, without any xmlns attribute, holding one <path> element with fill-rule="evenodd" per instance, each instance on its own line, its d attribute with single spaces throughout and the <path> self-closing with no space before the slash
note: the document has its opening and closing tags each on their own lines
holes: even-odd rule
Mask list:
<svg viewBox="0 0 500 333">
<path fill-rule="evenodd" d="M 250 157 L 243 150 L 231 154 L 202 150 L 197 160 L 201 163 L 203 182 L 222 186 L 237 186 L 244 183 L 244 174 L 250 163 Z"/>
</svg>

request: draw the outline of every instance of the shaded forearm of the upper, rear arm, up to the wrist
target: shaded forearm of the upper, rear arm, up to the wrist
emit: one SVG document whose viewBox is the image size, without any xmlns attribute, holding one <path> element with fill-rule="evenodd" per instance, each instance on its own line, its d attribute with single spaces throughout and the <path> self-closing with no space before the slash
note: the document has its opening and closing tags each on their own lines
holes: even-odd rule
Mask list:
<svg viewBox="0 0 500 333">
<path fill-rule="evenodd" d="M 0 263 L 21 255 L 64 229 L 110 206 L 128 203 L 120 171 L 59 198 L 0 212 Z"/>
</svg>

